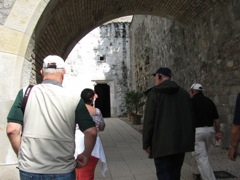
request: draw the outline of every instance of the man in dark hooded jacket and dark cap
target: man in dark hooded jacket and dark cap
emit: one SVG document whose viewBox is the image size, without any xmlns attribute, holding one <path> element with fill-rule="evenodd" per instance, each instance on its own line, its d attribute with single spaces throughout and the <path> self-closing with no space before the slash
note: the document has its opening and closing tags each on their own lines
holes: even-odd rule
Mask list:
<svg viewBox="0 0 240 180">
<path fill-rule="evenodd" d="M 189 94 L 159 68 L 149 89 L 143 123 L 143 149 L 154 158 L 157 177 L 180 180 L 185 152 L 194 151 L 195 128 Z"/>
</svg>

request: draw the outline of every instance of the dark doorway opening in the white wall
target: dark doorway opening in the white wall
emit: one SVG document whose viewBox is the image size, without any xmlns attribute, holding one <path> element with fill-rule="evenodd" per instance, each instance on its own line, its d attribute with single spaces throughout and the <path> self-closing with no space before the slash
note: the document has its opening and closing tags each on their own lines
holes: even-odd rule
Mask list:
<svg viewBox="0 0 240 180">
<path fill-rule="evenodd" d="M 109 85 L 106 83 L 97 84 L 95 85 L 94 90 L 98 95 L 98 98 L 95 102 L 95 107 L 101 110 L 103 117 L 111 117 Z"/>
</svg>

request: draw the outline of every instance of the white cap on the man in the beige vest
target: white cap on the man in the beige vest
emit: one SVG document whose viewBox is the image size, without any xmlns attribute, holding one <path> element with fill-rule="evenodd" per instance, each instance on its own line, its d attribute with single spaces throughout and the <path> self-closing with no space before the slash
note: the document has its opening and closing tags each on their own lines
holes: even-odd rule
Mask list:
<svg viewBox="0 0 240 180">
<path fill-rule="evenodd" d="M 43 68 L 64 69 L 64 60 L 57 55 L 49 55 L 43 60 Z"/>
</svg>

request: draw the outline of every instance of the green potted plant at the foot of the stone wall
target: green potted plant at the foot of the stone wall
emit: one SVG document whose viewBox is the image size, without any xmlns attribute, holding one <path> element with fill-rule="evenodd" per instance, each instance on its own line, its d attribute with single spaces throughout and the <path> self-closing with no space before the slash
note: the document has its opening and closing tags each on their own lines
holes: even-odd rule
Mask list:
<svg viewBox="0 0 240 180">
<path fill-rule="evenodd" d="M 126 108 L 128 110 L 128 116 L 131 119 L 132 124 L 140 124 L 142 115 L 139 112 L 142 111 L 144 105 L 144 94 L 139 91 L 128 91 L 125 95 Z"/>
</svg>

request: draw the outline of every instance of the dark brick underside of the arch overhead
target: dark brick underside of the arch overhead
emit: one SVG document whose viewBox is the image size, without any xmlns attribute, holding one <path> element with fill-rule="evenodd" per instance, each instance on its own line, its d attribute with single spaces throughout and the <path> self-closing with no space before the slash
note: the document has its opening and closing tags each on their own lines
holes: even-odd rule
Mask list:
<svg viewBox="0 0 240 180">
<path fill-rule="evenodd" d="M 224 0 L 51 0 L 33 34 L 34 59 L 48 54 L 66 58 L 75 44 L 97 26 L 127 15 L 145 14 L 190 25 Z"/>
</svg>

